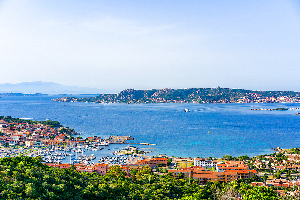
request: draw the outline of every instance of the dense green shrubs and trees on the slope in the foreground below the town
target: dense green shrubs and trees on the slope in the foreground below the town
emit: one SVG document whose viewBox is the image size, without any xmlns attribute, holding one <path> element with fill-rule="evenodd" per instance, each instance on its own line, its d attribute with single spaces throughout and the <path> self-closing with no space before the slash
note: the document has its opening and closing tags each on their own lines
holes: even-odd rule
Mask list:
<svg viewBox="0 0 300 200">
<path fill-rule="evenodd" d="M 0 200 L 142 200 L 142 199 L 193 199 L 219 200 L 224 193 L 230 199 L 242 194 L 248 200 L 277 199 L 271 188 L 253 187 L 235 180 L 230 184 L 218 181 L 199 185 L 197 180 L 175 179 L 172 174 L 157 177 L 143 167 L 130 178 L 120 166 L 112 166 L 107 175 L 80 173 L 75 166 L 70 169 L 48 167 L 41 157 L 9 157 L 0 159 Z M 232 196 L 233 195 L 233 196 Z M 227 198 L 229 199 L 229 198 Z"/>
</svg>

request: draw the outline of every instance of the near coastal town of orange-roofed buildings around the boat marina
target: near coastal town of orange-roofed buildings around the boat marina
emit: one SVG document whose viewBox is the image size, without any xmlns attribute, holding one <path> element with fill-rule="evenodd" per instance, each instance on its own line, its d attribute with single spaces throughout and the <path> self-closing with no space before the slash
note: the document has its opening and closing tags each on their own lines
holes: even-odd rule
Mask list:
<svg viewBox="0 0 300 200">
<path fill-rule="evenodd" d="M 74 130 L 68 127 L 51 127 L 44 124 L 29 123 L 0 123 L 0 153 L 3 157 L 20 155 L 26 149 L 30 150 L 22 155 L 40 156 L 41 153 L 50 151 L 67 151 L 67 148 L 78 149 L 80 147 L 87 148 L 94 145 L 109 145 L 125 142 L 130 136 L 113 136 L 108 139 L 102 139 L 98 136 L 82 138 L 74 137 Z M 111 140 L 110 140 L 111 139 Z M 120 141 L 121 139 L 121 141 Z M 123 143 L 124 144 L 124 143 Z M 8 149 L 10 148 L 10 150 Z M 14 151 L 18 151 L 14 152 Z M 130 151 L 130 154 L 124 152 Z M 6 153 L 4 153 L 6 151 Z M 33 152 L 32 152 L 33 151 Z M 238 158 L 232 156 L 223 156 L 222 159 L 212 157 L 196 157 L 182 159 L 180 157 L 168 157 L 166 154 L 158 156 L 145 156 L 137 153 L 134 146 L 124 148 L 124 151 L 118 151 L 118 155 L 129 155 L 124 157 L 107 157 L 100 159 L 97 163 L 85 162 L 93 155 L 87 156 L 82 160 L 75 159 L 70 163 L 46 162 L 44 164 L 55 168 L 69 168 L 75 166 L 79 172 L 99 173 L 106 175 L 110 170 L 110 166 L 119 165 L 126 172 L 125 177 L 133 175 L 132 170 L 137 172 L 145 167 L 151 168 L 152 172 L 157 175 L 165 175 L 176 179 L 191 179 L 201 185 L 205 185 L 211 181 L 220 181 L 224 183 L 246 182 L 254 185 L 262 185 L 273 187 L 280 192 L 284 188 L 293 188 L 300 185 L 300 149 L 284 150 L 275 149 L 275 153 L 271 155 L 261 155 L 249 158 L 240 156 Z M 288 153 L 288 151 L 290 151 Z M 79 151 L 82 152 L 82 151 Z M 142 152 L 142 151 L 141 151 Z M 16 155 L 15 155 L 16 154 Z M 1 155 L 1 154 L 0 154 Z M 44 154 L 49 155 L 49 154 Z M 110 160 L 122 162 L 113 163 Z M 186 166 L 184 166 L 184 163 Z M 187 163 L 189 165 L 187 165 Z M 273 174 L 274 173 L 274 174 Z"/>
</svg>

